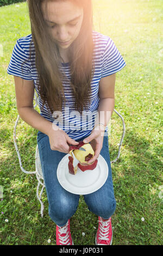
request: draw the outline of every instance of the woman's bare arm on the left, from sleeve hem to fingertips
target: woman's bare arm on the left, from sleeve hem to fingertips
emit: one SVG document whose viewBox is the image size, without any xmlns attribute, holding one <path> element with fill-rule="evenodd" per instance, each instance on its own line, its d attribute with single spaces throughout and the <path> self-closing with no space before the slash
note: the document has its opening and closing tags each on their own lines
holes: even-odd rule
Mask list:
<svg viewBox="0 0 163 256">
<path fill-rule="evenodd" d="M 65 131 L 59 129 L 51 121 L 43 118 L 33 106 L 34 82 L 22 80 L 21 77 L 14 76 L 17 111 L 22 120 L 49 137 L 52 150 L 69 153 L 70 144 L 77 145 L 79 142 L 70 138 Z M 23 82 L 23 86 L 22 86 Z"/>
</svg>

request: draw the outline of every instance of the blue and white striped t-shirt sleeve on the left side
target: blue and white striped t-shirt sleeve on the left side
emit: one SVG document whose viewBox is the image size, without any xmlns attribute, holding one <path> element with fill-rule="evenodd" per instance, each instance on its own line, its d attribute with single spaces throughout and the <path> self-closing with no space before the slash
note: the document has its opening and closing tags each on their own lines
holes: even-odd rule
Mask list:
<svg viewBox="0 0 163 256">
<path fill-rule="evenodd" d="M 19 76 L 24 80 L 33 80 L 31 76 L 30 62 L 28 60 L 26 52 L 23 50 L 18 40 L 14 46 L 14 50 L 12 51 L 12 56 L 7 72 L 9 75 Z"/>
</svg>

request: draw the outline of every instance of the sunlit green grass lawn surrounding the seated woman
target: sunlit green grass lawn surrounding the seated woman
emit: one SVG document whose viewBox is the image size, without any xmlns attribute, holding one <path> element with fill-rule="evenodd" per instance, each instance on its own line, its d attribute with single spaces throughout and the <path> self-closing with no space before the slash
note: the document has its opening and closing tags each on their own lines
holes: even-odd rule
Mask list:
<svg viewBox="0 0 163 256">
<path fill-rule="evenodd" d="M 112 216 L 112 244 L 161 245 L 162 0 L 93 0 L 93 9 L 96 31 L 114 40 L 127 63 L 117 74 L 115 88 L 115 109 L 123 115 L 126 136 L 120 159 L 112 164 L 117 200 Z M 21 172 L 12 136 L 17 109 L 14 78 L 7 74 L 7 67 L 16 40 L 30 34 L 26 3 L 1 7 L 0 24 L 0 186 L 4 189 L 4 198 L 0 199 L 0 243 L 55 245 L 55 224 L 48 215 L 46 191 L 41 218 L 37 179 Z M 111 160 L 117 156 L 121 133 L 121 119 L 113 113 L 109 135 Z M 36 134 L 36 130 L 20 121 L 18 147 L 23 167 L 30 171 L 35 170 Z M 87 210 L 81 196 L 78 210 L 71 218 L 74 245 L 95 245 L 97 225 L 97 216 Z"/>
</svg>

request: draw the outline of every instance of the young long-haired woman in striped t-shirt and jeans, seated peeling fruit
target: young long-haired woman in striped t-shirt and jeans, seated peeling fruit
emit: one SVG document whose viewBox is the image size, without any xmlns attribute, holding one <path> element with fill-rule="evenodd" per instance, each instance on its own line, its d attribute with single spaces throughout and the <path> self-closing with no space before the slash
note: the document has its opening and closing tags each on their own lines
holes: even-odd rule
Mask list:
<svg viewBox="0 0 163 256">
<path fill-rule="evenodd" d="M 95 151 L 88 164 L 99 154 L 108 164 L 105 184 L 84 195 L 84 199 L 98 216 L 96 245 L 111 245 L 111 216 L 116 200 L 107 124 L 114 111 L 116 72 L 126 63 L 109 36 L 93 31 L 91 0 L 27 3 L 32 34 L 17 40 L 8 74 L 14 75 L 20 117 L 38 130 L 49 216 L 57 224 L 57 245 L 73 245 L 70 218 L 80 196 L 61 187 L 57 167 L 69 153 L 70 145 L 78 145 L 79 141 L 90 143 Z M 34 90 L 40 113 L 33 106 Z M 74 115 L 74 111 L 78 114 Z"/>
</svg>

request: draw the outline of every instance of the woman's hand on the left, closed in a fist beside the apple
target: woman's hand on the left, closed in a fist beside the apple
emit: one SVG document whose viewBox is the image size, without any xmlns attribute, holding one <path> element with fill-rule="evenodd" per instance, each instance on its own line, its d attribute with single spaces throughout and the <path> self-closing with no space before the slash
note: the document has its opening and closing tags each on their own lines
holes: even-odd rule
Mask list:
<svg viewBox="0 0 163 256">
<path fill-rule="evenodd" d="M 48 131 L 49 143 L 52 150 L 58 150 L 62 153 L 69 153 L 70 145 L 78 145 L 79 142 L 74 141 L 70 138 L 67 133 L 63 130 L 53 128 Z"/>
</svg>

